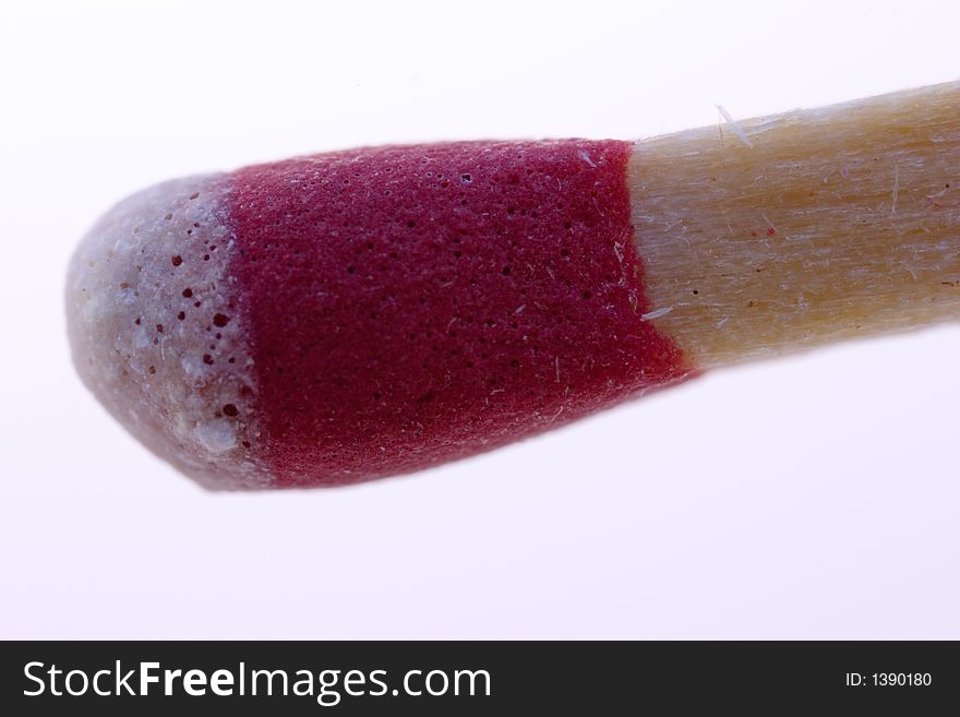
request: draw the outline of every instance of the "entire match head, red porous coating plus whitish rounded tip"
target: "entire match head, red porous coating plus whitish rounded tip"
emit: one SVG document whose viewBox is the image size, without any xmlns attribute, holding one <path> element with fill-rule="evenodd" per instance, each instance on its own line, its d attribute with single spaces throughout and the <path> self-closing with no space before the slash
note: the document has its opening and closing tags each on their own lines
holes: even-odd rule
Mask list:
<svg viewBox="0 0 960 717">
<path fill-rule="evenodd" d="M 465 457 L 685 377 L 626 142 L 381 147 L 136 194 L 68 286 L 87 385 L 211 488 Z"/>
</svg>

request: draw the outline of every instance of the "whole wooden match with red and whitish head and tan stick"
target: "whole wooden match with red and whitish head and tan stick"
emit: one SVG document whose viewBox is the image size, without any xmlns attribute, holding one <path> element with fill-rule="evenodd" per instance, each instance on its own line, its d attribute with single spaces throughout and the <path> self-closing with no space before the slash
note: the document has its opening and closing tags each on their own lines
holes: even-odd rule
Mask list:
<svg viewBox="0 0 960 717">
<path fill-rule="evenodd" d="M 643 140 L 374 147 L 136 194 L 74 360 L 209 488 L 335 486 L 960 315 L 960 84 Z"/>
</svg>

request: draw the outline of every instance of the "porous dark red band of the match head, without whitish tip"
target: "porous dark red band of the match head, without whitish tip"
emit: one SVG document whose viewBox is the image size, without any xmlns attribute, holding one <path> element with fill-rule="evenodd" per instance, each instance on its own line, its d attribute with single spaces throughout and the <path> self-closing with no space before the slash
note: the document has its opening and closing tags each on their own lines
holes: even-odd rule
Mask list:
<svg viewBox="0 0 960 717">
<path fill-rule="evenodd" d="M 640 315 L 627 142 L 388 146 L 233 176 L 263 461 L 409 473 L 688 371 Z"/>
</svg>

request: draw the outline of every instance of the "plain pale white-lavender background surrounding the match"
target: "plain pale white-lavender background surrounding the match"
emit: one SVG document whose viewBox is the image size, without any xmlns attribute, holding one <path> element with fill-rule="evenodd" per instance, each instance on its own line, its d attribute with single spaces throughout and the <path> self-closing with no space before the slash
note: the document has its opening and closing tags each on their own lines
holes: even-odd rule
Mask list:
<svg viewBox="0 0 960 717">
<path fill-rule="evenodd" d="M 143 186 L 956 80 L 958 9 L 4 0 L 0 636 L 960 638 L 957 326 L 718 371 L 408 478 L 209 494 L 83 389 L 62 308 L 73 244 Z"/>
</svg>

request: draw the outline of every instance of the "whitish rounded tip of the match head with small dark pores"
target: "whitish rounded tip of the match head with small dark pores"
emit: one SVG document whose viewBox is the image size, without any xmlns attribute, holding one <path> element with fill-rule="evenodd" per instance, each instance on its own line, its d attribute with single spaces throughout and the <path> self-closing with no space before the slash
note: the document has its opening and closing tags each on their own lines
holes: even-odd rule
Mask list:
<svg viewBox="0 0 960 717">
<path fill-rule="evenodd" d="M 207 488 L 256 488 L 251 361 L 229 276 L 221 176 L 123 200 L 77 247 L 67 279 L 73 360 L 133 435 Z"/>
</svg>

